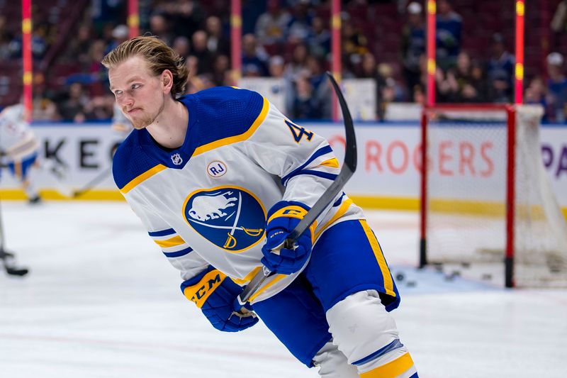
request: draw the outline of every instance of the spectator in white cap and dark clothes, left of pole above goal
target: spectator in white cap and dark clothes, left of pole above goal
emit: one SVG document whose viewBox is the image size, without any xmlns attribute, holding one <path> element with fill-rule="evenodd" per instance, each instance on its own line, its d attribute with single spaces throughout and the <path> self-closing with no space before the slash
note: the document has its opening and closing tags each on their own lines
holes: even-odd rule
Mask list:
<svg viewBox="0 0 567 378">
<path fill-rule="evenodd" d="M 402 29 L 401 48 L 403 77 L 410 99 L 420 84 L 420 57 L 425 54 L 425 26 L 422 6 L 417 1 L 408 5 L 408 21 Z"/>
</svg>

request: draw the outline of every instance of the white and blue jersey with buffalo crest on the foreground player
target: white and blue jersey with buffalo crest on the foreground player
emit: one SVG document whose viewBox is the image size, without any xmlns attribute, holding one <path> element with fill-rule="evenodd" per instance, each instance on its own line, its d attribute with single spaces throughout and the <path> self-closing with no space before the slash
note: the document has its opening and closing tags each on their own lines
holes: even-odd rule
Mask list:
<svg viewBox="0 0 567 378">
<path fill-rule="evenodd" d="M 212 265 L 246 284 L 262 266 L 267 211 L 282 199 L 313 206 L 339 162 L 324 138 L 254 91 L 217 87 L 179 101 L 189 110 L 183 145 L 167 151 L 147 130 L 133 130 L 114 157 L 115 182 L 182 279 Z M 341 194 L 318 218 L 315 238 L 359 218 Z M 252 302 L 297 274 L 270 277 Z"/>
</svg>

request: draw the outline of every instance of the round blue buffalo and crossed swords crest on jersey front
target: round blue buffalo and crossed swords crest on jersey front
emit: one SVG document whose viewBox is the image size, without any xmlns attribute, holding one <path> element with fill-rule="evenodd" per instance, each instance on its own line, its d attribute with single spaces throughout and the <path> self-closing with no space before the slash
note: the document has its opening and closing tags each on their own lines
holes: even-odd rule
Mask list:
<svg viewBox="0 0 567 378">
<path fill-rule="evenodd" d="M 193 191 L 183 213 L 193 230 L 229 252 L 242 252 L 264 238 L 266 211 L 254 194 L 239 187 Z"/>
</svg>

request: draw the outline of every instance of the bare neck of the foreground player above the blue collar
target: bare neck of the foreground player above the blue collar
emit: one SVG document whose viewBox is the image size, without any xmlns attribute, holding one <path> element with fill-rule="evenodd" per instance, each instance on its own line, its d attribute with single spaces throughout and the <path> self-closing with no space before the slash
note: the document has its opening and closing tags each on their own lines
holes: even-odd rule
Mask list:
<svg viewBox="0 0 567 378">
<path fill-rule="evenodd" d="M 179 148 L 183 145 L 189 123 L 189 112 L 184 104 L 172 99 L 165 101 L 164 109 L 154 123 L 147 126 L 152 138 L 165 148 Z"/>
</svg>

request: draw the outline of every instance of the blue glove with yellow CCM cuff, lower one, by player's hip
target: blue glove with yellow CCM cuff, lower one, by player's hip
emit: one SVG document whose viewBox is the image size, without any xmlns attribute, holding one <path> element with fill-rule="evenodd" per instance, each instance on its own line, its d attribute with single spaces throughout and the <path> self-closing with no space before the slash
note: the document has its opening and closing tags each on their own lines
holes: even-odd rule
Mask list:
<svg viewBox="0 0 567 378">
<path fill-rule="evenodd" d="M 237 296 L 242 292 L 242 287 L 214 267 L 209 266 L 196 277 L 183 282 L 181 291 L 201 308 L 208 321 L 218 330 L 237 332 L 258 323 L 255 313 L 238 312 L 241 306 Z M 251 306 L 247 305 L 247 308 L 252 311 Z"/>
</svg>

